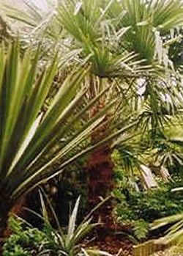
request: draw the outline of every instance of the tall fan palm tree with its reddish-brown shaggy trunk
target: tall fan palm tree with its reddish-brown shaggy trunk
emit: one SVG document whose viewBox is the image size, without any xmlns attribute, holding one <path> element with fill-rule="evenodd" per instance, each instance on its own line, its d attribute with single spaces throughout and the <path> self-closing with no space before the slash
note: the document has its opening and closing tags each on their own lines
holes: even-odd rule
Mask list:
<svg viewBox="0 0 183 256">
<path fill-rule="evenodd" d="M 176 98 L 182 93 L 181 78 L 173 69 L 168 48 L 179 40 L 179 34 L 170 39 L 170 30 L 182 26 L 182 12 L 179 0 L 63 0 L 58 1 L 48 26 L 44 21 L 36 26 L 39 29 L 34 32 L 39 32 L 41 37 L 45 31 L 43 37 L 49 37 L 51 43 L 58 43 L 59 48 L 64 45 L 64 51 L 75 52 L 70 66 L 75 62 L 85 67 L 91 65 L 86 76 L 89 98 L 96 97 L 106 87 L 111 88 L 108 95 L 113 92 L 119 95 L 119 106 L 108 110 L 100 131 L 91 133 L 91 142 L 100 142 L 111 131 L 127 125 L 135 134 L 137 123 L 141 132 L 151 130 L 153 139 L 154 133 L 169 123 L 170 114 L 179 110 Z M 50 30 L 55 32 L 58 28 L 59 33 L 53 36 Z M 108 99 L 106 95 L 100 98 L 89 117 L 94 118 L 105 108 Z M 112 119 L 113 116 L 116 118 Z M 118 119 L 121 122 L 116 125 Z M 118 143 L 132 136 L 124 130 L 124 137 Z M 110 142 L 94 150 L 85 167 L 91 205 L 111 190 L 114 145 L 117 143 Z"/>
</svg>

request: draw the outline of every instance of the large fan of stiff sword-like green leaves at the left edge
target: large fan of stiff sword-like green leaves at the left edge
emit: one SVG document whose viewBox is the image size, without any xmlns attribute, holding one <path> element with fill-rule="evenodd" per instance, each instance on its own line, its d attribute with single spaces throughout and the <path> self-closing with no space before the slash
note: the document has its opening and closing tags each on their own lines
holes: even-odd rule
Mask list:
<svg viewBox="0 0 183 256">
<path fill-rule="evenodd" d="M 58 71 L 57 59 L 45 67 L 38 65 L 38 59 L 39 51 L 34 55 L 28 50 L 21 56 L 18 43 L 8 49 L 0 47 L 0 236 L 10 209 L 23 194 L 121 133 L 117 131 L 95 145 L 78 147 L 105 119 L 105 109 L 89 121 L 83 116 L 106 89 L 86 100 L 87 84 L 83 80 L 90 67 L 76 67 L 45 108 Z M 107 108 L 114 103 L 113 98 Z M 75 129 L 78 120 L 83 125 Z"/>
</svg>

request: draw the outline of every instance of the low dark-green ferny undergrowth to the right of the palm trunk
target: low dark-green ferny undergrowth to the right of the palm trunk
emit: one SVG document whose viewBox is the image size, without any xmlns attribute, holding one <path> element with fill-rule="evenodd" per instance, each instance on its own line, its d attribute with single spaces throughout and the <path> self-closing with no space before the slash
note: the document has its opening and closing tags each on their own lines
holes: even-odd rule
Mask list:
<svg viewBox="0 0 183 256">
<path fill-rule="evenodd" d="M 165 185 L 152 191 L 131 191 L 125 194 L 124 189 L 115 189 L 117 200 L 114 216 L 122 224 L 132 224 L 133 232 L 139 240 L 145 238 L 149 224 L 155 219 L 163 218 L 183 211 L 180 197 L 171 192 L 176 183 Z"/>
</svg>

